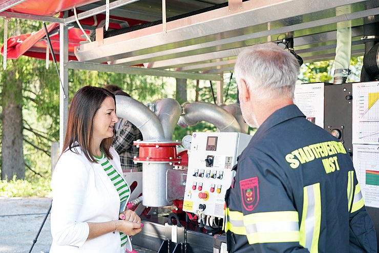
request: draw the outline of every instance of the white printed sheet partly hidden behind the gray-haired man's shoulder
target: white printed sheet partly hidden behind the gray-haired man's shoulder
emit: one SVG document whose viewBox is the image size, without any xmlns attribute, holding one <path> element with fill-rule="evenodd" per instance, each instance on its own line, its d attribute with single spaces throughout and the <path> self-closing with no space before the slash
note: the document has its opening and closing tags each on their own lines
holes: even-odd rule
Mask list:
<svg viewBox="0 0 379 253">
<path fill-rule="evenodd" d="M 324 83 L 297 84 L 294 92 L 294 104 L 307 120 L 324 128 Z"/>
</svg>

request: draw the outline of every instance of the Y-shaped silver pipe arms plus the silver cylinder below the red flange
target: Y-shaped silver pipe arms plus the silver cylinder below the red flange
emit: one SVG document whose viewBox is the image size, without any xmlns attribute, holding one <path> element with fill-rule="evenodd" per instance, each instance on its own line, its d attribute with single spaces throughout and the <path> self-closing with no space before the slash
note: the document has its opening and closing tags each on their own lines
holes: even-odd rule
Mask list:
<svg viewBox="0 0 379 253">
<path fill-rule="evenodd" d="M 181 107 L 172 98 L 155 102 L 155 115 L 141 102 L 127 96 L 116 96 L 118 117 L 127 118 L 142 133 L 143 141 L 159 143 L 171 141 Z M 172 165 L 169 163 L 145 162 L 142 165 L 142 203 L 145 206 L 166 206 L 172 204 L 167 200 L 167 174 Z"/>
</svg>

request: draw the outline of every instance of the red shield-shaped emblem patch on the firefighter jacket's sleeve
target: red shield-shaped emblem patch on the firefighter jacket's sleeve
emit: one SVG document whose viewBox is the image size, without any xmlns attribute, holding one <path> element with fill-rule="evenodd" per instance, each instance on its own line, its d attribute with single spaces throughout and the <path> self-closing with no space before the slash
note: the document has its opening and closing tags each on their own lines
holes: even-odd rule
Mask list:
<svg viewBox="0 0 379 253">
<path fill-rule="evenodd" d="M 258 177 L 241 180 L 240 189 L 243 206 L 248 211 L 254 210 L 259 202 Z"/>
</svg>

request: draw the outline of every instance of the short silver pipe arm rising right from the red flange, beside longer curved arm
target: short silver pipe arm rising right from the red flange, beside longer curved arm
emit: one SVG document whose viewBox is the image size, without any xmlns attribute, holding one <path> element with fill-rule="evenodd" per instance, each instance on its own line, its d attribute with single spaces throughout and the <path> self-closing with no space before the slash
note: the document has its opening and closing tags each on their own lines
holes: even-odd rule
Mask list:
<svg viewBox="0 0 379 253">
<path fill-rule="evenodd" d="M 171 141 L 181 114 L 180 104 L 173 98 L 163 98 L 153 103 L 155 104 L 155 114 L 162 124 L 164 140 Z"/>
</svg>

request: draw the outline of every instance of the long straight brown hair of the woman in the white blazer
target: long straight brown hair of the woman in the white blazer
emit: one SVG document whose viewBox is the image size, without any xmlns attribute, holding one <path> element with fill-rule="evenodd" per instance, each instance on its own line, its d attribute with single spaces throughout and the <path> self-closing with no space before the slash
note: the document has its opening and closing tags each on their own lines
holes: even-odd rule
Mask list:
<svg viewBox="0 0 379 253">
<path fill-rule="evenodd" d="M 91 151 L 93 118 L 107 97 L 112 97 L 116 106 L 115 95 L 106 89 L 85 86 L 76 92 L 68 113 L 66 136 L 62 149 L 64 152 L 70 150 L 77 153 L 73 148 L 80 146 L 83 154 L 90 162 L 96 161 Z M 109 159 L 113 158 L 109 152 L 112 141 L 113 136 L 103 139 L 100 143 L 100 150 Z"/>
</svg>

